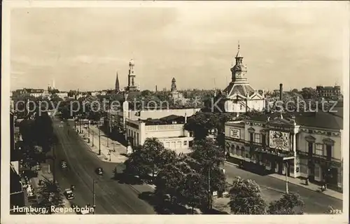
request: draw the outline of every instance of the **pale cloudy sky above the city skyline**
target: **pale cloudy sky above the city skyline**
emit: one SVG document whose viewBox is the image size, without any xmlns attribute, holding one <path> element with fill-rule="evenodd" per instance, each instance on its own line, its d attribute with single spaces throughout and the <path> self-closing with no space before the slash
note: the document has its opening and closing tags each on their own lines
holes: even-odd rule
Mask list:
<svg viewBox="0 0 350 224">
<path fill-rule="evenodd" d="M 124 87 L 134 59 L 142 90 L 169 89 L 173 77 L 179 89 L 214 83 L 223 89 L 238 41 L 255 89 L 340 84 L 349 63 L 344 3 L 16 8 L 10 15 L 10 87 L 46 88 L 55 79 L 60 90 L 107 89 L 117 71 Z"/>
</svg>

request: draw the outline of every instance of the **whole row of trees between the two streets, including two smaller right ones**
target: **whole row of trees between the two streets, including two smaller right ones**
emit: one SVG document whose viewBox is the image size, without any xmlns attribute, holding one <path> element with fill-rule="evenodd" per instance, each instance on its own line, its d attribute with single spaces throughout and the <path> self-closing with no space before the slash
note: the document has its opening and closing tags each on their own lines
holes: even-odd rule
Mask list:
<svg viewBox="0 0 350 224">
<path fill-rule="evenodd" d="M 195 141 L 193 152 L 176 155 L 158 139 L 146 139 L 125 161 L 125 172 L 151 179 L 155 196 L 161 202 L 188 205 L 199 209 L 211 207 L 214 192 L 223 193 L 226 178 L 222 169 L 223 151 L 210 139 Z M 289 193 L 267 204 L 258 184 L 237 178 L 229 190 L 229 206 L 233 214 L 302 214 L 304 202 L 299 195 Z"/>
</svg>

